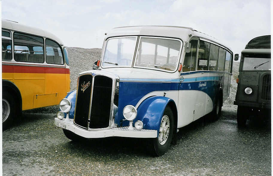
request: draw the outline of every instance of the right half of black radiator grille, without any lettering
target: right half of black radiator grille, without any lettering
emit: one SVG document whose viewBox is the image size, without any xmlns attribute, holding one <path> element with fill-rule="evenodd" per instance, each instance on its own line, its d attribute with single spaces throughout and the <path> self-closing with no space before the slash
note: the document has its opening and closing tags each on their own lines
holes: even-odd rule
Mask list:
<svg viewBox="0 0 273 176">
<path fill-rule="evenodd" d="M 97 75 L 94 78 L 89 128 L 107 128 L 110 122 L 113 80 Z"/>
</svg>

